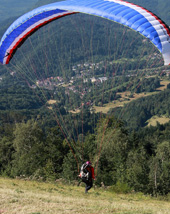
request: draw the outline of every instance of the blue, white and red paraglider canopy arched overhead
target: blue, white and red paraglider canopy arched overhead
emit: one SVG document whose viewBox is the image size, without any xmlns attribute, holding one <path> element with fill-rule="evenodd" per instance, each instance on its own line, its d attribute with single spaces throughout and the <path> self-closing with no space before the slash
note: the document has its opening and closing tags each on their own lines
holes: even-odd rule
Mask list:
<svg viewBox="0 0 170 214">
<path fill-rule="evenodd" d="M 0 42 L 0 62 L 8 64 L 22 43 L 40 27 L 55 19 L 85 13 L 123 24 L 148 38 L 170 64 L 170 29 L 152 12 L 123 0 L 67 0 L 34 9 L 18 18 Z"/>
</svg>

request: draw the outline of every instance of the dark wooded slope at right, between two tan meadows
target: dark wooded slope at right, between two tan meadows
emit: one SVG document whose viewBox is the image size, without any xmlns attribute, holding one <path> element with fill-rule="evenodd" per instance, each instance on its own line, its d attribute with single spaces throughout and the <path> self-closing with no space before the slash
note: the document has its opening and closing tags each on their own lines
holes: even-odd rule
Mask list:
<svg viewBox="0 0 170 214">
<path fill-rule="evenodd" d="M 143 96 L 126 104 L 121 110 L 122 120 L 126 121 L 128 127 L 138 129 L 147 125 L 147 120 L 153 116 L 169 118 L 169 94 L 170 90 L 164 90 L 151 96 Z M 119 112 L 119 110 L 118 110 Z M 118 115 L 121 114 L 120 112 Z"/>
</svg>

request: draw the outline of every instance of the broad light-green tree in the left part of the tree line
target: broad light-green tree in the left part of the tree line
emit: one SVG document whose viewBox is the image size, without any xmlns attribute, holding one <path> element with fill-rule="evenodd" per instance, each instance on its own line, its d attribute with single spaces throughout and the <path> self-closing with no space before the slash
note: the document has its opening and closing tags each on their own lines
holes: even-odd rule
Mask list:
<svg viewBox="0 0 170 214">
<path fill-rule="evenodd" d="M 13 145 L 13 176 L 31 176 L 42 170 L 46 157 L 44 133 L 37 122 L 16 124 Z"/>
</svg>

